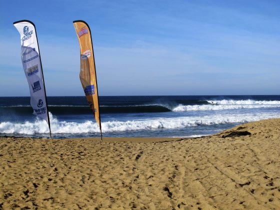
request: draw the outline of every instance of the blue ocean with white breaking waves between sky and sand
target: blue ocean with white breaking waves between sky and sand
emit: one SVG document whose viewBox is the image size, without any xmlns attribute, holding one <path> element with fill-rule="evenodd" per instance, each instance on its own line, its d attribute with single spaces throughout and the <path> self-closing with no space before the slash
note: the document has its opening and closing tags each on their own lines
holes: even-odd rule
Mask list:
<svg viewBox="0 0 280 210">
<path fill-rule="evenodd" d="M 53 138 L 98 137 L 84 96 L 47 97 Z M 100 96 L 103 136 L 196 137 L 280 117 L 280 95 Z M 0 136 L 48 137 L 30 97 L 0 97 Z"/>
</svg>

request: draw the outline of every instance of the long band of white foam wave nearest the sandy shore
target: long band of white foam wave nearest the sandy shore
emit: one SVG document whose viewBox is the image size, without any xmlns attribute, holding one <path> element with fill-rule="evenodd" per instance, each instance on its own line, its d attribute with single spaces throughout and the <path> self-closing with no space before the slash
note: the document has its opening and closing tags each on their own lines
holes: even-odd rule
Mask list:
<svg viewBox="0 0 280 210">
<path fill-rule="evenodd" d="M 102 122 L 102 132 L 133 131 L 160 128 L 184 128 L 197 125 L 212 125 L 224 123 L 243 123 L 261 119 L 280 117 L 280 113 L 251 114 L 215 114 L 209 116 L 183 116 L 173 118 L 155 118 L 145 120 L 105 121 Z M 99 127 L 95 121 L 66 122 L 59 121 L 50 114 L 52 133 L 98 133 Z M 24 123 L 1 122 L 0 133 L 48 133 L 48 125 L 44 120 L 26 121 Z"/>
</svg>

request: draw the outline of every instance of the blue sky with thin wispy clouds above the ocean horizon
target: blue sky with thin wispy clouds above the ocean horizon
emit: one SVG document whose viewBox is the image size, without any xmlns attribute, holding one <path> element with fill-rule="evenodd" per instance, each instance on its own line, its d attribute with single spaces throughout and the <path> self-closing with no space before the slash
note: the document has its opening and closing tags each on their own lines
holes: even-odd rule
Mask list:
<svg viewBox="0 0 280 210">
<path fill-rule="evenodd" d="M 0 0 L 0 96 L 29 96 L 21 19 L 36 26 L 48 96 L 84 95 L 77 19 L 99 95 L 280 94 L 279 11 L 279 0 Z"/>
</svg>

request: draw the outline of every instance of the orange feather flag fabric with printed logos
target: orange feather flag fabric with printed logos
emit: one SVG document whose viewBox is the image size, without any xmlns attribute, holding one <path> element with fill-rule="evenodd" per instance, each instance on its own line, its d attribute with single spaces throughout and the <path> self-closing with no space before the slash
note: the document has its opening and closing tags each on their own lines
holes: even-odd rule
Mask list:
<svg viewBox="0 0 280 210">
<path fill-rule="evenodd" d="M 88 105 L 92 110 L 94 118 L 98 123 L 101 131 L 97 80 L 91 32 L 88 24 L 83 20 L 75 20 L 73 21 L 73 24 L 80 46 L 80 82 Z"/>
</svg>

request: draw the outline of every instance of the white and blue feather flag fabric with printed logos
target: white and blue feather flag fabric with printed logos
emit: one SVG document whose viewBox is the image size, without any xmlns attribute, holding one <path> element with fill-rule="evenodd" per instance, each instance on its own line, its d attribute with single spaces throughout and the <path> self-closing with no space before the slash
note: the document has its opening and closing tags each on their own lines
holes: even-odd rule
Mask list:
<svg viewBox="0 0 280 210">
<path fill-rule="evenodd" d="M 20 34 L 21 61 L 30 90 L 33 114 L 46 120 L 50 132 L 45 86 L 35 25 L 29 20 L 13 22 Z"/>
</svg>

